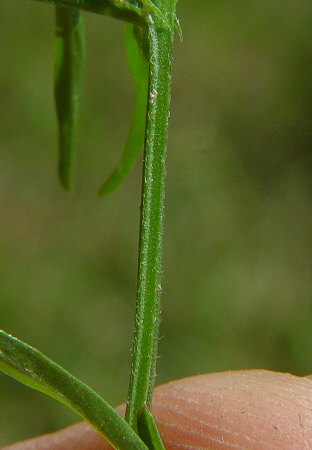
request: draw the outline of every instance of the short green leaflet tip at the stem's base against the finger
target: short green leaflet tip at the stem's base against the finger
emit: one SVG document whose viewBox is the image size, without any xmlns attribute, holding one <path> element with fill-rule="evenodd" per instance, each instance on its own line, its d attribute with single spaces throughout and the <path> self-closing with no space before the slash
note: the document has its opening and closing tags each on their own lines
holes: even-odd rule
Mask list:
<svg viewBox="0 0 312 450">
<path fill-rule="evenodd" d="M 142 412 L 138 415 L 138 434 L 145 442 L 149 450 L 166 450 L 161 440 L 155 420 L 145 405 Z"/>
</svg>

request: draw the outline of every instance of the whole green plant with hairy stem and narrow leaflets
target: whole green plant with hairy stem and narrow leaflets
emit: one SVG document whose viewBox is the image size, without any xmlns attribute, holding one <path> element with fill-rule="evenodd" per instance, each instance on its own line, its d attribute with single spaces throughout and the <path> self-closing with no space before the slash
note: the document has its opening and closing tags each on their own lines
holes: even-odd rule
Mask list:
<svg viewBox="0 0 312 450">
<path fill-rule="evenodd" d="M 0 370 L 63 403 L 116 449 L 164 449 L 150 412 L 155 381 L 170 106 L 171 56 L 177 0 L 37 0 L 55 5 L 55 101 L 59 175 L 73 186 L 74 141 L 84 60 L 82 11 L 127 22 L 127 55 L 136 90 L 121 161 L 100 189 L 112 192 L 144 146 L 139 267 L 132 367 L 123 419 L 90 387 L 38 350 L 0 330 Z"/>
</svg>

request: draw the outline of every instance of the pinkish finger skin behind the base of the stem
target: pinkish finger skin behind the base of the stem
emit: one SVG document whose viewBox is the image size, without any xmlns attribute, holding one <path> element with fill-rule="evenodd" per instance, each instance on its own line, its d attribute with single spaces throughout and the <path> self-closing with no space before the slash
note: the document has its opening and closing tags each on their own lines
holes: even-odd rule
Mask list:
<svg viewBox="0 0 312 450">
<path fill-rule="evenodd" d="M 155 390 L 167 450 L 312 449 L 312 381 L 252 370 L 186 378 Z M 86 424 L 3 450 L 106 450 Z M 129 449 L 130 450 L 130 449 Z"/>
</svg>

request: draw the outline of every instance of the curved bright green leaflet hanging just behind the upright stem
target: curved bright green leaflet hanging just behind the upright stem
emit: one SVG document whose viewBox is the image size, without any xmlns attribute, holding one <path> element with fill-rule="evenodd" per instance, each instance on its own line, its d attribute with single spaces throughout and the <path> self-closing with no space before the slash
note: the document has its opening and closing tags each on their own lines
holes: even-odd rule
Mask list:
<svg viewBox="0 0 312 450">
<path fill-rule="evenodd" d="M 100 195 L 113 192 L 126 178 L 143 150 L 148 95 L 147 36 L 145 29 L 127 25 L 126 49 L 135 87 L 135 105 L 127 144 L 121 160 L 100 189 Z"/>
</svg>

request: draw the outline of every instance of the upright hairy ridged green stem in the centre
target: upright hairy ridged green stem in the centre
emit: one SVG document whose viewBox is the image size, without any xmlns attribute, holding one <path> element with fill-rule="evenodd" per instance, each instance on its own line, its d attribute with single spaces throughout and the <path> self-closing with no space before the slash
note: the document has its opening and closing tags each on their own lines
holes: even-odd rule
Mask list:
<svg viewBox="0 0 312 450">
<path fill-rule="evenodd" d="M 126 419 L 137 429 L 137 416 L 151 407 L 155 382 L 162 270 L 165 161 L 171 91 L 171 54 L 175 0 L 155 4 L 168 20 L 159 27 L 149 17 L 149 104 L 143 168 L 139 273 L 132 369 Z"/>
</svg>

